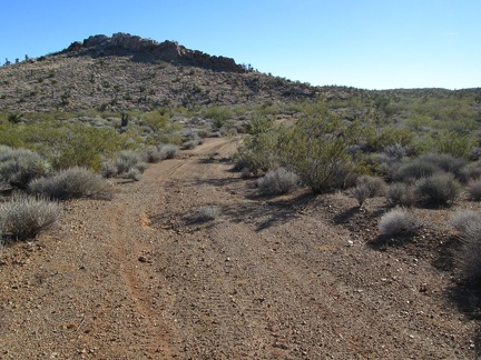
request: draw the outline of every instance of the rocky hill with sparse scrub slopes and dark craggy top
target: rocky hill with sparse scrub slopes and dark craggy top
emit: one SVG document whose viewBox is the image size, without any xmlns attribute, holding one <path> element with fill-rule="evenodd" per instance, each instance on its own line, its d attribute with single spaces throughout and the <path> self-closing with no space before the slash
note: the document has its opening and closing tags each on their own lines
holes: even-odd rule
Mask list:
<svg viewBox="0 0 481 360">
<path fill-rule="evenodd" d="M 249 68 L 173 41 L 126 33 L 94 36 L 57 53 L 0 67 L 0 109 L 122 111 L 252 104 L 307 99 L 318 91 Z"/>
</svg>

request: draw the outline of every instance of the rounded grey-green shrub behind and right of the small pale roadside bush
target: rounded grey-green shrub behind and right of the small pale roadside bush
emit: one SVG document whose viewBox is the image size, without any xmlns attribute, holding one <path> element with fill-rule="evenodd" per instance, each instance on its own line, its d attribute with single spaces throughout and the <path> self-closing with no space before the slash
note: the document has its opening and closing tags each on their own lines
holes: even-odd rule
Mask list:
<svg viewBox="0 0 481 360">
<path fill-rule="evenodd" d="M 423 204 L 451 204 L 460 194 L 461 186 L 451 173 L 435 173 L 419 179 L 415 184 L 418 200 Z"/>
</svg>

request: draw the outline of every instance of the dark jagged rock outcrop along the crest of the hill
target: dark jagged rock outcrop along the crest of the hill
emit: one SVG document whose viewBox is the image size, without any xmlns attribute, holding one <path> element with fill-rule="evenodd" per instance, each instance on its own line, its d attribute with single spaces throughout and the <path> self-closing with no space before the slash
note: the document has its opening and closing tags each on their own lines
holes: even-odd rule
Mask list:
<svg viewBox="0 0 481 360">
<path fill-rule="evenodd" d="M 206 68 L 215 71 L 246 72 L 246 68 L 234 59 L 215 57 L 198 50 L 189 50 L 175 41 L 157 42 L 138 36 L 118 32 L 110 38 L 105 34 L 91 36 L 84 41 L 72 42 L 63 53 L 89 53 L 94 57 L 118 56 L 125 51 L 136 52 L 138 60 L 161 60 L 169 63 Z"/>
</svg>

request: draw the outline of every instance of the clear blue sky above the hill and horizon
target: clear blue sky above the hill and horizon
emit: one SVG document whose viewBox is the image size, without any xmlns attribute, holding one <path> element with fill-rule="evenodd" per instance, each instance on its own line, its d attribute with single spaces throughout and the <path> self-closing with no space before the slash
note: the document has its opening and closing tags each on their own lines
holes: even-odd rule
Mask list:
<svg viewBox="0 0 481 360">
<path fill-rule="evenodd" d="M 481 0 L 0 0 L 0 9 L 1 63 L 128 32 L 316 86 L 481 87 Z"/>
</svg>

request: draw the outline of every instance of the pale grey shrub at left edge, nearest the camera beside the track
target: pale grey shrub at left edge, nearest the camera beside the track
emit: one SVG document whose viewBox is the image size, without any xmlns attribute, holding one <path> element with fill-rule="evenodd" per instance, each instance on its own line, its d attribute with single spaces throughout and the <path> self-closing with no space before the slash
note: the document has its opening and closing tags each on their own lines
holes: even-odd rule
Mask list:
<svg viewBox="0 0 481 360">
<path fill-rule="evenodd" d="M 42 198 L 14 197 L 0 203 L 0 228 L 11 240 L 35 238 L 60 219 L 56 202 Z"/>
</svg>

